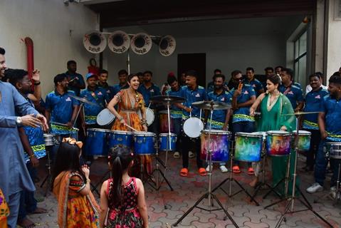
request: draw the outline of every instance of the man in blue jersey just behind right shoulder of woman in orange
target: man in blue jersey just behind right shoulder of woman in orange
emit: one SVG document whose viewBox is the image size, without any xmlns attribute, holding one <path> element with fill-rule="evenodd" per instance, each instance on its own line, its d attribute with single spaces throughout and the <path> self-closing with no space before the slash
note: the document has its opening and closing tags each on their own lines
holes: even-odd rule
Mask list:
<svg viewBox="0 0 341 228">
<path fill-rule="evenodd" d="M 143 73 L 143 83 L 140 85 L 137 91 L 142 94 L 146 107 L 151 108 L 154 111 L 154 121 L 148 126 L 148 131 L 159 135 L 159 118 L 157 115 L 157 107 L 154 104 L 150 104 L 149 99 L 155 95 L 161 95 L 161 91 L 159 86 L 152 83 L 152 76 L 152 71 L 145 71 Z"/>
</svg>

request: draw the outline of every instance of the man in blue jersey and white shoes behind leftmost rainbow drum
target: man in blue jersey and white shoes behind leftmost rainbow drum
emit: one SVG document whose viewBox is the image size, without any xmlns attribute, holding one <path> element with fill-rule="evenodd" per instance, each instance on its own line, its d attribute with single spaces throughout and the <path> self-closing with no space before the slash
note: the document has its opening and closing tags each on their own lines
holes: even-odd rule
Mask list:
<svg viewBox="0 0 341 228">
<path fill-rule="evenodd" d="M 231 104 L 232 95 L 224 89 L 225 76 L 222 74 L 216 74 L 213 77 L 214 80 L 214 90 L 207 94 L 207 100 L 219 101 L 223 103 Z M 213 130 L 228 130 L 229 120 L 231 116 L 231 109 L 229 110 L 214 110 L 212 114 L 212 121 L 210 116 L 206 123 L 206 129 Z M 227 172 L 226 162 L 220 162 L 219 168 L 221 172 Z M 206 171 L 209 172 L 209 165 L 206 167 Z"/>
</svg>

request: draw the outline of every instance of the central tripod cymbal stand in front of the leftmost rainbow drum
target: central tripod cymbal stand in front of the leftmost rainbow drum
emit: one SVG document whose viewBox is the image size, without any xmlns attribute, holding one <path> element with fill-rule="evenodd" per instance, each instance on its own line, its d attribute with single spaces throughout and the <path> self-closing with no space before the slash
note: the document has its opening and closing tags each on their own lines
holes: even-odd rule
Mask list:
<svg viewBox="0 0 341 228">
<path fill-rule="evenodd" d="M 210 125 L 209 125 L 209 138 L 207 140 L 208 142 L 208 157 L 209 157 L 209 191 L 206 192 L 204 195 L 202 195 L 193 205 L 193 207 L 189 208 L 189 210 L 187 210 L 187 212 L 184 213 L 184 215 L 182 215 L 182 217 L 180 217 L 177 222 L 175 222 L 173 224 L 174 227 L 177 227 L 177 225 L 182 222 L 182 219 L 184 219 L 185 217 L 187 217 L 187 215 L 192 212 L 192 210 L 196 207 L 199 209 L 202 209 L 204 211 L 207 212 L 213 212 L 213 211 L 217 211 L 217 210 L 223 210 L 224 213 L 226 214 L 226 217 L 229 217 L 229 219 L 231 220 L 231 222 L 234 224 L 234 227 L 238 228 L 238 225 L 236 224 L 236 222 L 234 221 L 234 219 L 231 217 L 231 215 L 229 214 L 229 212 L 227 212 L 227 210 L 225 209 L 225 207 L 223 206 L 223 204 L 221 204 L 221 202 L 219 201 L 219 199 L 216 197 L 216 195 L 213 194 L 214 191 L 211 190 L 211 180 L 212 180 L 212 150 L 211 150 L 211 143 L 210 143 L 210 138 L 211 138 L 211 123 L 212 123 L 212 115 L 213 115 L 213 104 L 211 105 L 211 121 L 210 121 Z M 199 207 L 198 204 L 205 198 L 209 199 L 209 209 L 203 208 L 203 207 Z M 217 209 L 211 209 L 211 206 L 213 204 L 212 199 L 215 199 L 216 202 L 219 204 L 220 208 Z"/>
</svg>

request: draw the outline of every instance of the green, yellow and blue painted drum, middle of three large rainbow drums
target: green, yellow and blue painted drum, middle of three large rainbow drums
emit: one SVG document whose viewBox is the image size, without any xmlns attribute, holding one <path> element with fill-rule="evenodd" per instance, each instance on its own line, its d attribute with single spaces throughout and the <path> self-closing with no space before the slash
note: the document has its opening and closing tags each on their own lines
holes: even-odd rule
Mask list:
<svg viewBox="0 0 341 228">
<path fill-rule="evenodd" d="M 263 135 L 236 133 L 234 159 L 243 162 L 259 162 L 263 147 Z"/>
</svg>

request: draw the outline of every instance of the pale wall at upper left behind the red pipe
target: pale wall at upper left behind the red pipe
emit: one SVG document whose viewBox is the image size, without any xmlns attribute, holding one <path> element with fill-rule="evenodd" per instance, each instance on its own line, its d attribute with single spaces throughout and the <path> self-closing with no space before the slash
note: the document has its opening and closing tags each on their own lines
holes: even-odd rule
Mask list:
<svg viewBox="0 0 341 228">
<path fill-rule="evenodd" d="M 6 49 L 9 68 L 27 68 L 26 46 L 21 38 L 32 38 L 34 66 L 41 70 L 43 96 L 53 90 L 53 77 L 66 71 L 68 60 L 77 61 L 79 73 L 87 73 L 93 55 L 85 50 L 82 39 L 87 31 L 98 28 L 98 19 L 83 4 L 1 0 L 0 21 L 0 46 Z"/>
</svg>

